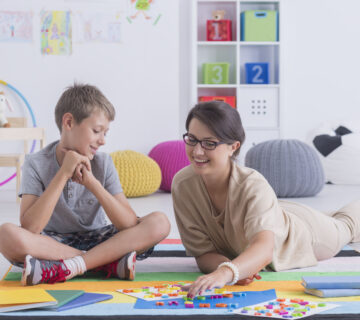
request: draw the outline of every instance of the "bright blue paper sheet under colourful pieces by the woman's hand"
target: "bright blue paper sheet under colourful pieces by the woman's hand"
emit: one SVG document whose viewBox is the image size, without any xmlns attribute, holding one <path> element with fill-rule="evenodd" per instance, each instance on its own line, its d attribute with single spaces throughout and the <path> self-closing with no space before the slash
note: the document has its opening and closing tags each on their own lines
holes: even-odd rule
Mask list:
<svg viewBox="0 0 360 320">
<path fill-rule="evenodd" d="M 197 300 L 196 298 L 193 300 L 194 309 L 209 309 L 209 308 L 200 308 L 200 303 L 210 303 L 210 309 L 219 309 L 215 305 L 217 303 L 226 303 L 229 304 L 236 303 L 236 308 L 251 306 L 253 304 L 269 301 L 276 299 L 275 289 L 265 290 L 265 291 L 242 291 L 246 296 L 244 297 L 236 297 L 233 298 L 222 298 L 222 299 L 210 299 L 210 296 L 206 296 L 206 300 Z M 157 306 L 156 302 L 161 301 L 164 302 L 163 306 Z M 169 305 L 169 301 L 177 301 L 179 305 Z M 155 300 L 155 301 L 146 301 L 143 299 L 137 299 L 134 309 L 187 309 L 185 308 L 185 301 L 183 298 L 171 299 L 171 300 Z M 222 309 L 222 308 L 220 308 Z M 191 310 L 191 309 L 188 309 Z"/>
</svg>

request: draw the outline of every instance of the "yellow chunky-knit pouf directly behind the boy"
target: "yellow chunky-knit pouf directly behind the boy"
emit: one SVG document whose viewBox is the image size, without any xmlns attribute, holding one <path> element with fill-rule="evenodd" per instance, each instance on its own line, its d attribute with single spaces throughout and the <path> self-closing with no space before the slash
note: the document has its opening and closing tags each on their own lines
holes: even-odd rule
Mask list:
<svg viewBox="0 0 360 320">
<path fill-rule="evenodd" d="M 154 160 L 132 150 L 115 151 L 110 156 L 127 197 L 141 197 L 159 189 L 161 170 Z"/>
</svg>

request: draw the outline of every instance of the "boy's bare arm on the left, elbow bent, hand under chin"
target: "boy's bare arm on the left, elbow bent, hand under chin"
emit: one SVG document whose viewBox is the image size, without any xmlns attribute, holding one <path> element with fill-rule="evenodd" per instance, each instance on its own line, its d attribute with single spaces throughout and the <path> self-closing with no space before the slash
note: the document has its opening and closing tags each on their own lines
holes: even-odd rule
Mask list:
<svg viewBox="0 0 360 320">
<path fill-rule="evenodd" d="M 23 195 L 20 206 L 20 224 L 24 229 L 40 233 L 45 228 L 67 180 L 73 176 L 76 166 L 80 163 L 90 168 L 90 161 L 87 157 L 75 151 L 66 152 L 60 170 L 44 193 L 40 197 L 30 194 Z"/>
</svg>

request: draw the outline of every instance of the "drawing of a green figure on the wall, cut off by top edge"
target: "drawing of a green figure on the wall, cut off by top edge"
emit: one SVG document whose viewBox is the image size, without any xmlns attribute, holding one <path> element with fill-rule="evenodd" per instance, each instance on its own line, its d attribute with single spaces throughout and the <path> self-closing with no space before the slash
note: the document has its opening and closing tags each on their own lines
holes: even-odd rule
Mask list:
<svg viewBox="0 0 360 320">
<path fill-rule="evenodd" d="M 127 20 L 129 23 L 138 20 L 148 20 L 155 26 L 161 17 L 156 3 L 159 0 L 129 0 L 131 3 Z"/>
</svg>

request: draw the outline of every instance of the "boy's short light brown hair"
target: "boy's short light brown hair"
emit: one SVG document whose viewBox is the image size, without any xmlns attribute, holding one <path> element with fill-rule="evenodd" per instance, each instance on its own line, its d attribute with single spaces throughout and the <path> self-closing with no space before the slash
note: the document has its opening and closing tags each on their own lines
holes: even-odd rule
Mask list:
<svg viewBox="0 0 360 320">
<path fill-rule="evenodd" d="M 115 118 L 114 106 L 97 87 L 75 83 L 66 88 L 56 104 L 56 125 L 61 132 L 62 118 L 65 113 L 71 113 L 75 121 L 80 123 L 95 110 L 103 111 L 109 121 L 113 121 Z"/>
</svg>

